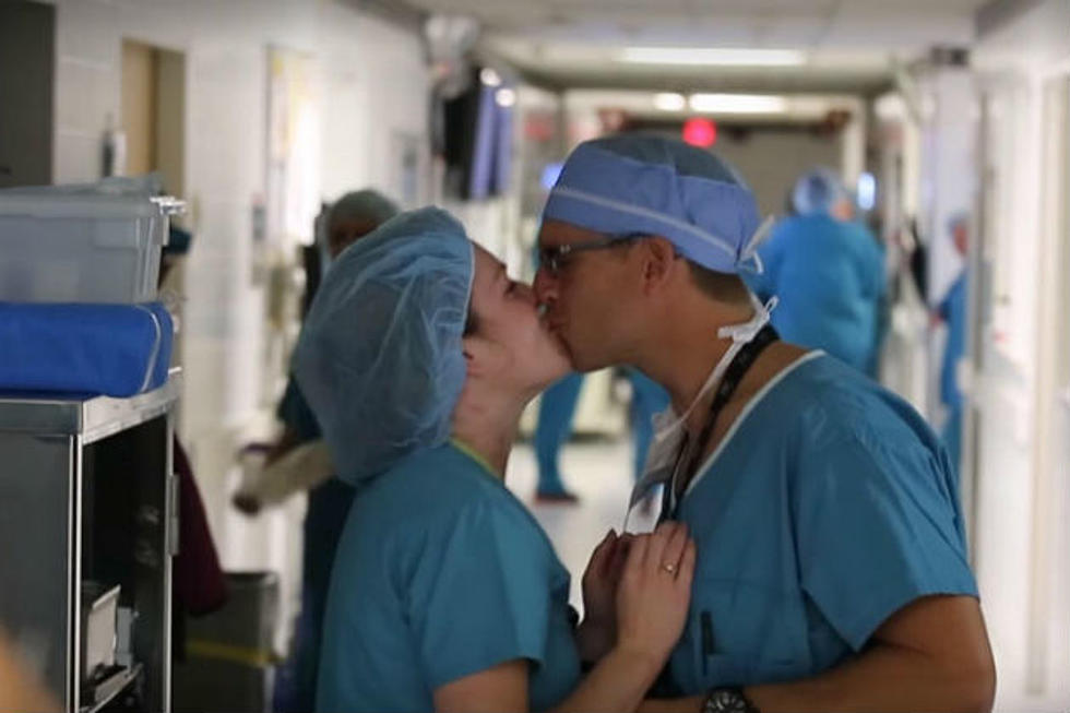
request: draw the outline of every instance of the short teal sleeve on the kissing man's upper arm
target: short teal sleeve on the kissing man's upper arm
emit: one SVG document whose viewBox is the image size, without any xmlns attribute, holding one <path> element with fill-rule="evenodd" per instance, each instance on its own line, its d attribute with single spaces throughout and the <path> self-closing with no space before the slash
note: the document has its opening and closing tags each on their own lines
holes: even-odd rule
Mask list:
<svg viewBox="0 0 1070 713">
<path fill-rule="evenodd" d="M 849 435 L 799 459 L 802 589 L 855 651 L 918 597 L 977 596 L 939 455 L 919 441 Z"/>
</svg>

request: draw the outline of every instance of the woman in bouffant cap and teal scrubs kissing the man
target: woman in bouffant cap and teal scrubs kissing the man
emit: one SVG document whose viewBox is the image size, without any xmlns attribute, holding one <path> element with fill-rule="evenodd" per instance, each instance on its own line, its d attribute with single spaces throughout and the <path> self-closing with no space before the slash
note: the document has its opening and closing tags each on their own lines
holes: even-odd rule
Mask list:
<svg viewBox="0 0 1070 713">
<path fill-rule="evenodd" d="M 443 211 L 406 213 L 328 272 L 294 364 L 355 488 L 317 710 L 634 710 L 682 629 L 694 544 L 610 531 L 574 627 L 568 571 L 503 483 L 525 404 L 571 368 L 531 287 Z"/>
</svg>

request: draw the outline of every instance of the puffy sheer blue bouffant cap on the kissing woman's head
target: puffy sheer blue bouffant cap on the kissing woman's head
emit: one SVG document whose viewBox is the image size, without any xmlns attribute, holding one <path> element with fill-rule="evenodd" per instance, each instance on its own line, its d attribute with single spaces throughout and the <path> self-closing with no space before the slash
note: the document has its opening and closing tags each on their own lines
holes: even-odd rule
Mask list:
<svg viewBox="0 0 1070 713">
<path fill-rule="evenodd" d="M 423 209 L 348 247 L 326 273 L 294 372 L 342 479 L 360 483 L 449 438 L 474 264 L 461 224 Z"/>
</svg>

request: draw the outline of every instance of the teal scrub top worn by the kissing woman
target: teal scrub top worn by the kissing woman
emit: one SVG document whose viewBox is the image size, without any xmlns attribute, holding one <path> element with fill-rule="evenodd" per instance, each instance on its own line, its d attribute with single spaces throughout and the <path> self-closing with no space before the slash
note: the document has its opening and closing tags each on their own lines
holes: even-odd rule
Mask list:
<svg viewBox="0 0 1070 713">
<path fill-rule="evenodd" d="M 457 442 L 361 487 L 328 597 L 317 708 L 431 711 L 437 688 L 530 662 L 532 710 L 579 684 L 569 573 L 546 533 Z"/>
</svg>

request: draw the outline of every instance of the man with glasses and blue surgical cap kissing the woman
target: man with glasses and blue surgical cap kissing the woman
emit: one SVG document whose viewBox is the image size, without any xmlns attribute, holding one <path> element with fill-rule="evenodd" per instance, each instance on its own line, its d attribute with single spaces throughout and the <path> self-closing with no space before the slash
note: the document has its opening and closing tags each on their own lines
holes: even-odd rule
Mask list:
<svg viewBox="0 0 1070 713">
<path fill-rule="evenodd" d="M 539 234 L 539 300 L 574 365 L 666 388 L 646 473 L 699 550 L 666 711 L 985 710 L 995 668 L 951 462 L 902 400 L 785 343 L 740 274 L 753 195 L 644 135 L 571 154 Z"/>
</svg>

